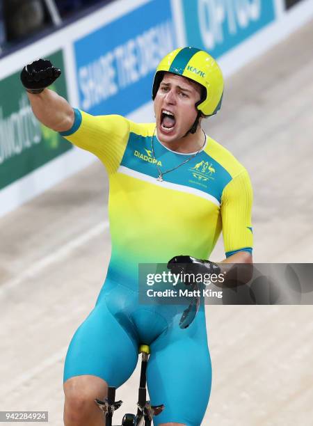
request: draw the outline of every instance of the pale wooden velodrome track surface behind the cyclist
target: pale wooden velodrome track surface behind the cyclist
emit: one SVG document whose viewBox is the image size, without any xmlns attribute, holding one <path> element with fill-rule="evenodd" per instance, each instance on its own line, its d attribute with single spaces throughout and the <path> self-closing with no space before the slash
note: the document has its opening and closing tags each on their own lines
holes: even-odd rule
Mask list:
<svg viewBox="0 0 313 426">
<path fill-rule="evenodd" d="M 207 132 L 250 172 L 255 262 L 312 262 L 313 22 L 227 80 Z M 0 410 L 63 425 L 67 345 L 109 260 L 107 182 L 93 164 L 0 219 Z M 220 260 L 218 244 L 212 259 Z M 312 306 L 209 306 L 214 368 L 204 425 L 309 426 Z M 138 368 L 118 390 L 134 412 Z M 7 423 L 3 423 L 7 424 Z"/>
</svg>

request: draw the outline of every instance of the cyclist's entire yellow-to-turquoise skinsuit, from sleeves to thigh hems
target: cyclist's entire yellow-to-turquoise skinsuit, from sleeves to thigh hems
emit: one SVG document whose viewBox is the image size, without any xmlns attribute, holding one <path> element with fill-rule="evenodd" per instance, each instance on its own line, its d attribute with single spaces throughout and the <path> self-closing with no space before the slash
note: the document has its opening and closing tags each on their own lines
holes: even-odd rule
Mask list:
<svg viewBox="0 0 313 426">
<path fill-rule="evenodd" d="M 75 110 L 72 129 L 63 132 L 106 166 L 112 239 L 106 282 L 72 338 L 64 380 L 91 374 L 118 387 L 134 371 L 139 345 L 150 345 L 150 400 L 166 407 L 154 426 L 199 426 L 211 390 L 204 306 L 179 328 L 182 306 L 139 302 L 138 264 L 164 264 L 175 255 L 207 259 L 222 230 L 227 256 L 251 253 L 252 190 L 245 168 L 209 136 L 198 155 L 183 155 L 161 145 L 154 127 Z M 174 169 L 163 182 L 155 161 L 161 172 Z"/>
</svg>

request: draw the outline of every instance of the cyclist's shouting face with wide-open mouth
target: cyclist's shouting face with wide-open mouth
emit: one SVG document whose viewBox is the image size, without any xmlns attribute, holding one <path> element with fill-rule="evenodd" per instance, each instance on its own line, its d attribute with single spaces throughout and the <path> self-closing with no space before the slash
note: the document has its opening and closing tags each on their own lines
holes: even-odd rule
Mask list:
<svg viewBox="0 0 313 426">
<path fill-rule="evenodd" d="M 200 85 L 179 75 L 164 74 L 154 99 L 157 134 L 161 141 L 177 141 L 188 132 L 197 117 L 195 103 L 200 96 Z"/>
</svg>

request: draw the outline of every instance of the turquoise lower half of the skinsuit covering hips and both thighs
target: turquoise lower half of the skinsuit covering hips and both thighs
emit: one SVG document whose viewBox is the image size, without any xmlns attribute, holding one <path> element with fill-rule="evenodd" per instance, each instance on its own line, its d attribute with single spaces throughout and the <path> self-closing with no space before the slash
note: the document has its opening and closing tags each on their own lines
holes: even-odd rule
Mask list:
<svg viewBox="0 0 313 426">
<path fill-rule="evenodd" d="M 107 278 L 95 308 L 72 338 L 64 381 L 93 374 L 118 388 L 136 368 L 139 345 L 150 345 L 150 401 L 166 407 L 154 426 L 200 425 L 211 390 L 204 306 L 188 329 L 179 328 L 183 310 L 179 305 L 139 304 L 138 291 Z"/>
</svg>

